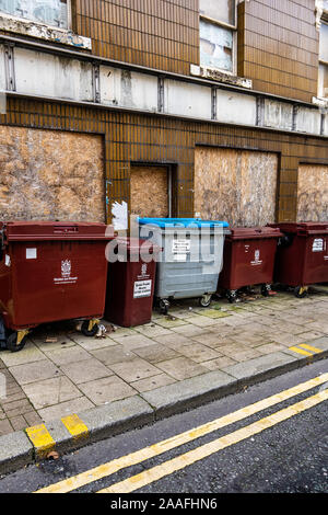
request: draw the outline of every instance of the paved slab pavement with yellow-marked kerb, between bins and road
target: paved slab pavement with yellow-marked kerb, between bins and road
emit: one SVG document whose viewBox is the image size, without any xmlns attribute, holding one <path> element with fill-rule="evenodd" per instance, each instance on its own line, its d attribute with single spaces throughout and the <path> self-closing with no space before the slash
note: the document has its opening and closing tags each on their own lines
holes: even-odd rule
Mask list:
<svg viewBox="0 0 328 515">
<path fill-rule="evenodd" d="M 37 328 L 0 352 L 0 473 L 150 424 L 328 356 L 328 287 L 176 302 L 168 316 L 89 339 Z"/>
</svg>

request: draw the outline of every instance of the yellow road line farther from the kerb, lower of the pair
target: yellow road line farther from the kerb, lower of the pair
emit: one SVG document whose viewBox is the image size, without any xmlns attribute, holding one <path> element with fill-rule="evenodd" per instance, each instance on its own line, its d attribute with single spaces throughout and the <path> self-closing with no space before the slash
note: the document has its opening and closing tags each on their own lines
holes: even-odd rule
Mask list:
<svg viewBox="0 0 328 515">
<path fill-rule="evenodd" d="M 144 472 L 139 474 L 132 476 L 131 478 L 126 479 L 125 481 L 120 481 L 119 483 L 112 484 L 106 489 L 99 490 L 97 493 L 130 493 L 136 490 L 141 489 L 154 481 L 159 481 L 160 479 L 164 478 L 165 476 L 171 476 L 178 470 L 181 470 L 197 461 L 200 461 L 219 450 L 225 449 L 232 445 L 235 445 L 244 439 L 249 438 L 256 434 L 261 433 L 269 427 L 283 422 L 291 416 L 294 416 L 298 413 L 302 413 L 305 410 L 314 408 L 315 405 L 319 404 L 320 402 L 328 400 L 328 389 L 320 391 L 319 393 L 305 399 L 304 401 L 297 402 L 296 404 L 292 404 L 281 411 L 277 411 L 272 415 L 269 415 L 265 419 L 261 419 L 254 424 L 247 425 L 246 427 L 242 427 L 241 430 L 234 431 L 231 434 L 222 436 L 209 444 L 202 445 L 197 447 L 194 450 L 189 450 L 176 458 L 173 458 L 168 461 L 165 461 L 162 465 L 157 465 Z"/>
</svg>

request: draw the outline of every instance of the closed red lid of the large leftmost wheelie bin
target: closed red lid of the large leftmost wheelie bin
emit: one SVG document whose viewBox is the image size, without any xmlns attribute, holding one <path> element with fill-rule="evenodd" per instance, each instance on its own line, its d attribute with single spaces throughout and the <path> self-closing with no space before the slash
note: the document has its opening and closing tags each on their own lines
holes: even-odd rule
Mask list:
<svg viewBox="0 0 328 515">
<path fill-rule="evenodd" d="M 74 221 L 0 222 L 5 241 L 110 240 L 114 227 L 106 224 Z"/>
</svg>

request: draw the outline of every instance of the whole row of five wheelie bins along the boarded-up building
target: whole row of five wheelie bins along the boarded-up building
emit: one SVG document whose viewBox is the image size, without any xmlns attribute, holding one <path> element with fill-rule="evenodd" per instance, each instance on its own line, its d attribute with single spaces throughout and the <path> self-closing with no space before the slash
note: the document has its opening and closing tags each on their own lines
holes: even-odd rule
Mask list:
<svg viewBox="0 0 328 515">
<path fill-rule="evenodd" d="M 147 323 L 153 298 L 167 313 L 171 299 L 206 307 L 218 289 L 234 301 L 248 285 L 269 295 L 274 281 L 303 297 L 328 281 L 328 222 L 139 218 L 138 227 L 138 238 L 117 238 L 104 224 L 0 222 L 0 343 L 20 351 L 33 328 L 61 320 L 81 321 L 86 336 L 103 317 Z"/>
</svg>

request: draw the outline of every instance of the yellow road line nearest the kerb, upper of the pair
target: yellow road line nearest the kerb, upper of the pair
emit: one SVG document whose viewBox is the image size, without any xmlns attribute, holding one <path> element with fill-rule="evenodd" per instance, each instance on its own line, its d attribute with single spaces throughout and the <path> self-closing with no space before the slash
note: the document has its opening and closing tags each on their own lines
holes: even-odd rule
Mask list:
<svg viewBox="0 0 328 515">
<path fill-rule="evenodd" d="M 302 382 L 292 387 L 288 390 L 276 393 L 274 396 L 268 397 L 261 401 L 249 404 L 248 407 L 242 408 L 241 410 L 230 413 L 229 415 L 216 419 L 208 424 L 200 425 L 192 428 L 191 431 L 184 432 L 181 434 L 175 435 L 171 438 L 167 438 L 157 444 L 144 447 L 143 449 L 131 453 L 127 456 L 108 461 L 107 464 L 95 467 L 85 472 L 81 472 L 77 476 L 73 476 L 69 479 L 59 481 L 58 483 L 50 484 L 49 487 L 38 490 L 36 493 L 67 493 L 72 490 L 77 490 L 85 484 L 90 484 L 99 479 L 106 478 L 118 470 L 121 470 L 126 467 L 131 467 L 132 465 L 138 465 L 147 459 L 159 456 L 167 450 L 174 449 L 184 445 L 186 443 L 192 442 L 200 436 L 207 435 L 213 431 L 216 431 L 226 425 L 238 422 L 243 419 L 246 419 L 255 413 L 258 413 L 267 408 L 270 408 L 279 402 L 285 401 L 291 397 L 303 393 L 312 388 L 324 385 L 328 381 L 328 374 L 323 374 L 321 376 L 309 379 L 306 382 Z"/>
</svg>

